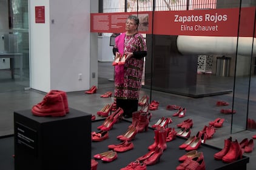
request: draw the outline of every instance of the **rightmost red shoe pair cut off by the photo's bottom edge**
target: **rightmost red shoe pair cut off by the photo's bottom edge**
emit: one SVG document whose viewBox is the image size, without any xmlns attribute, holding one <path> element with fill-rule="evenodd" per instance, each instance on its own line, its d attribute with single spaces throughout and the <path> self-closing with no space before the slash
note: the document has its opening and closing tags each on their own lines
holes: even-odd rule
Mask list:
<svg viewBox="0 0 256 170">
<path fill-rule="evenodd" d="M 203 152 L 195 152 L 186 157 L 184 162 L 176 167 L 176 170 L 205 170 Z"/>
</svg>

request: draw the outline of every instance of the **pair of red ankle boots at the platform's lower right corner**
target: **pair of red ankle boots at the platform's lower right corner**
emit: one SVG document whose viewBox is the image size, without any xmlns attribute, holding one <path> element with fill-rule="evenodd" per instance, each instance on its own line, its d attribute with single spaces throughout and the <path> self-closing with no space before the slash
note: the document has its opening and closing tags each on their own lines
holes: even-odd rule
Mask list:
<svg viewBox="0 0 256 170">
<path fill-rule="evenodd" d="M 214 154 L 214 159 L 222 160 L 226 163 L 231 163 L 237 159 L 241 159 L 243 155 L 240 144 L 235 140 L 232 141 L 232 137 L 224 140 L 224 148 Z"/>
</svg>

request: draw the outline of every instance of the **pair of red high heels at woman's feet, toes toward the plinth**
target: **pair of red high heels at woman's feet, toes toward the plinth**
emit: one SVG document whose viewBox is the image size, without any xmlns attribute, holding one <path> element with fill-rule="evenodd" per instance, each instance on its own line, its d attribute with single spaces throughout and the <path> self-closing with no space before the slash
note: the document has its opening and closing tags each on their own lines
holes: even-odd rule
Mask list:
<svg viewBox="0 0 256 170">
<path fill-rule="evenodd" d="M 109 131 L 110 129 L 113 128 L 113 125 L 116 122 L 121 121 L 123 113 L 123 109 L 118 108 L 114 113 L 110 114 L 110 116 L 108 116 L 104 120 L 103 124 L 98 126 L 97 129 L 101 129 L 102 131 Z"/>
</svg>

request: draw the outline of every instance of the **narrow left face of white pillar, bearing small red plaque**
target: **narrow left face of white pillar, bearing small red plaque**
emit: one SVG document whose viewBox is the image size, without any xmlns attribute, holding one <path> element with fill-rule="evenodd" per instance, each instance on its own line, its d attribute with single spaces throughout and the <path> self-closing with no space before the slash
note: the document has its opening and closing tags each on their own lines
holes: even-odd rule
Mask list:
<svg viewBox="0 0 256 170">
<path fill-rule="evenodd" d="M 45 6 L 45 23 L 35 23 L 35 6 Z M 50 91 L 49 1 L 29 1 L 31 88 Z"/>
</svg>

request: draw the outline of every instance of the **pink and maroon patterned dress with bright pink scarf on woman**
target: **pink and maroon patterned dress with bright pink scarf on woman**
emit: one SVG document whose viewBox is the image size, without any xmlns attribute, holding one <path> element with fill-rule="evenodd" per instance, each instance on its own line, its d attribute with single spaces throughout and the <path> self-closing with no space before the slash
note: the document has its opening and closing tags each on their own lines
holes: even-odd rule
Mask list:
<svg viewBox="0 0 256 170">
<path fill-rule="evenodd" d="M 120 54 L 134 51 L 147 51 L 146 42 L 140 33 L 128 36 L 120 34 L 115 39 Z M 115 66 L 115 97 L 116 99 L 138 100 L 143 74 L 144 57 L 130 57 L 124 65 Z"/>
</svg>

